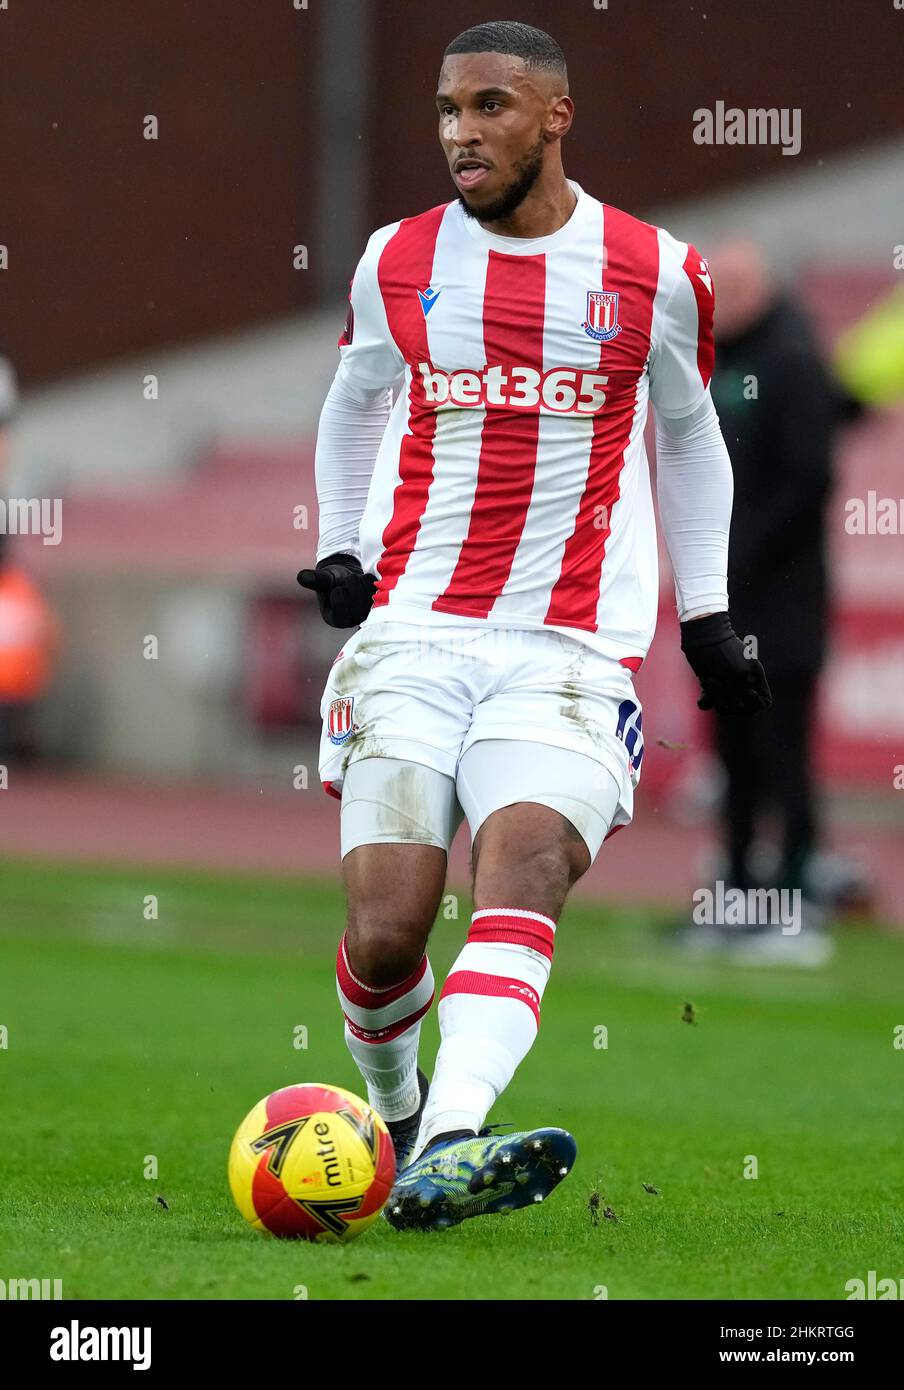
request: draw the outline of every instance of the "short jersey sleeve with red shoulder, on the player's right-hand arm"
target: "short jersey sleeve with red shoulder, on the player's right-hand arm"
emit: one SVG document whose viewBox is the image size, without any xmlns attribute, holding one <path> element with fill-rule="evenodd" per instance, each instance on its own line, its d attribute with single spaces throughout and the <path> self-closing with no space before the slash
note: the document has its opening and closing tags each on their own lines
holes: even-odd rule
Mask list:
<svg viewBox="0 0 904 1390">
<path fill-rule="evenodd" d="M 695 246 L 687 246 L 683 264 L 676 267 L 649 361 L 649 399 L 658 414 L 672 418 L 690 414 L 707 395 L 713 363 L 713 309 L 709 267 Z"/>
</svg>

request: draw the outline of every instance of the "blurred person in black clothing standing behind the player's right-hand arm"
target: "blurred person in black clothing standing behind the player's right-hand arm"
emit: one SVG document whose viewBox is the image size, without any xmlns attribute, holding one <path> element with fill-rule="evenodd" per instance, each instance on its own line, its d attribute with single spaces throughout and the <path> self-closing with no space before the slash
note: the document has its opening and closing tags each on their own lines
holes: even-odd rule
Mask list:
<svg viewBox="0 0 904 1390">
<path fill-rule="evenodd" d="M 709 265 L 718 285 L 712 396 L 734 471 L 729 603 L 738 635 L 758 644 L 775 699 L 750 720 L 716 714 L 726 776 L 723 876 L 743 891 L 800 890 L 797 941 L 786 935 L 776 945 L 775 931 L 745 927 L 743 945 L 819 963 L 829 952 L 823 909 L 853 892 L 855 878 L 841 858 L 818 853 L 812 734 L 829 620 L 832 450 L 839 427 L 859 407 L 830 374 L 802 310 L 776 288 L 757 245 L 727 240 Z M 772 809 L 780 842 L 764 878 L 754 851 Z"/>
</svg>

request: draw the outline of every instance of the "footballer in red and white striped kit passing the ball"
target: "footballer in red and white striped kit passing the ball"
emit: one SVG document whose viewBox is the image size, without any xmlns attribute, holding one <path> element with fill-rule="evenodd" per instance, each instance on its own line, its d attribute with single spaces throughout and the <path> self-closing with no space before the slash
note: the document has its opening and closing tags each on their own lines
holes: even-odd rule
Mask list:
<svg viewBox="0 0 904 1390">
<path fill-rule="evenodd" d="M 700 706 L 770 703 L 727 614 L 707 261 L 566 178 L 573 110 L 542 31 L 481 24 L 448 46 L 437 118 L 456 196 L 367 242 L 317 434 L 317 559 L 299 581 L 328 624 L 357 628 L 321 705 L 348 898 L 338 991 L 394 1138 L 399 1229 L 542 1201 L 574 1161 L 563 1129 L 485 1119 L 537 1036 L 569 890 L 631 820 L 633 676 L 658 599 L 649 403 Z M 462 817 L 474 913 L 428 1083 L 427 938 Z"/>
</svg>

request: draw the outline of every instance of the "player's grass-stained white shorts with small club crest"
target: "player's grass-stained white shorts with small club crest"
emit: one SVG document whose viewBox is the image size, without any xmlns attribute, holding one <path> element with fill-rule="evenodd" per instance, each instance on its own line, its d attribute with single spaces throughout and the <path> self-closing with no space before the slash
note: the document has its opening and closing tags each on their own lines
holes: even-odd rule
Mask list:
<svg viewBox="0 0 904 1390">
<path fill-rule="evenodd" d="M 609 777 L 601 787 L 613 780 L 616 788 L 605 833 L 631 820 L 643 759 L 643 717 L 631 673 L 562 632 L 396 621 L 364 626 L 337 656 L 320 713 L 320 778 L 332 795 L 342 796 L 346 769 L 362 759 L 416 763 L 455 784 L 474 744 L 509 739 L 580 753 L 574 763 L 547 766 L 544 780 L 567 777 L 580 785 L 562 785 L 562 796 L 595 798 L 592 778 L 605 770 Z M 499 805 L 547 799 L 524 795 L 523 758 L 509 767 L 510 774 L 502 769 L 499 777 L 517 783 L 516 794 Z M 502 785 L 498 796 L 505 795 Z M 599 799 L 605 803 L 609 796 Z M 476 834 L 478 827 L 471 821 L 470 828 Z"/>
</svg>

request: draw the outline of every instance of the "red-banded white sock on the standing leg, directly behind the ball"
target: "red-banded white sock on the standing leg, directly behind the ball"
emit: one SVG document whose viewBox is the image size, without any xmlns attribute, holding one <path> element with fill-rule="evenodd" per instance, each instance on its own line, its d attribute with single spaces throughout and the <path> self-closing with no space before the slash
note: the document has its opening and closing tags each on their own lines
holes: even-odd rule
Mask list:
<svg viewBox="0 0 904 1390">
<path fill-rule="evenodd" d="M 345 1041 L 367 1083 L 367 1099 L 384 1120 L 402 1120 L 420 1105 L 417 1042 L 420 1020 L 434 997 L 430 960 L 385 990 L 352 974 L 345 935 L 337 956 L 337 988 L 345 1015 Z"/>
</svg>

